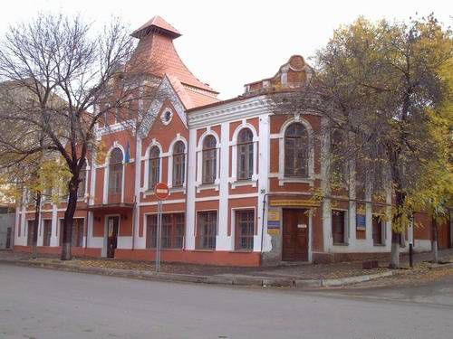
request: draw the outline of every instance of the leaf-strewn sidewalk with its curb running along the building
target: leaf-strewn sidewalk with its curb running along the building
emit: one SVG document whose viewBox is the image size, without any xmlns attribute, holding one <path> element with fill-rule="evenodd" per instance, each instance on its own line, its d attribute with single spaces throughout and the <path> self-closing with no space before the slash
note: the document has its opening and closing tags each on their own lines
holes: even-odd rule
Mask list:
<svg viewBox="0 0 453 339">
<path fill-rule="evenodd" d="M 439 258 L 453 260 L 453 250 L 440 251 Z M 417 254 L 414 261 L 420 263 L 429 259 L 430 253 L 422 253 Z M 407 260 L 406 256 L 401 256 L 401 265 L 406 266 Z M 155 272 L 154 262 L 152 261 L 82 258 L 61 261 L 52 256 L 30 259 L 28 253 L 11 251 L 0 251 L 0 262 L 118 277 L 258 287 L 340 287 L 375 278 L 390 277 L 395 273 L 395 271 L 386 267 L 388 262 L 380 262 L 379 268 L 362 269 L 361 261 L 352 261 L 335 264 L 294 264 L 259 268 L 162 263 L 158 274 Z M 418 264 L 417 269 L 428 268 L 426 264 Z M 397 272 L 401 273 L 400 270 L 397 270 Z"/>
</svg>

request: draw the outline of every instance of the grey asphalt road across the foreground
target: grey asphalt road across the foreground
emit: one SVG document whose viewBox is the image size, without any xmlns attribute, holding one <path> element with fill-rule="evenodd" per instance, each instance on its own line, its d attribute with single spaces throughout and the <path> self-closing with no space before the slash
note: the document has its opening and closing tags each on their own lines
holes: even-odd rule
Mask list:
<svg viewBox="0 0 453 339">
<path fill-rule="evenodd" d="M 0 264 L 0 338 L 451 338 L 453 278 L 303 292 Z"/>
</svg>

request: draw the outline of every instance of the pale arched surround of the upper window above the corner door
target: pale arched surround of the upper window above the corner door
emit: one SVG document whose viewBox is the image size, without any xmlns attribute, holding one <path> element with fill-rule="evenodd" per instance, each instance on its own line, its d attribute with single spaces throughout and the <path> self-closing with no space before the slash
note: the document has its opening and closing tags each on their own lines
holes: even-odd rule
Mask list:
<svg viewBox="0 0 453 339">
<path fill-rule="evenodd" d="M 293 123 L 300 123 L 304 125 L 308 132 L 309 140 L 309 154 L 308 154 L 308 177 L 287 177 L 284 176 L 284 133 L 286 128 Z M 313 186 L 314 184 L 314 151 L 313 151 L 313 128 L 310 123 L 302 118 L 299 114 L 296 114 L 294 118 L 287 119 L 282 127 L 280 128 L 280 134 L 278 137 L 278 184 L 283 186 L 284 183 L 306 183 Z"/>
</svg>

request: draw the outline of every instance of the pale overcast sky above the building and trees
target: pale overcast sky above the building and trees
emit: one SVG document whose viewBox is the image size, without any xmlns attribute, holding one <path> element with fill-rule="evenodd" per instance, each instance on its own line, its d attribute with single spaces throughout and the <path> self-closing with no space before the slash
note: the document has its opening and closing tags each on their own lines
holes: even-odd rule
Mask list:
<svg viewBox="0 0 453 339">
<path fill-rule="evenodd" d="M 407 20 L 416 13 L 434 12 L 441 22 L 451 24 L 452 4 L 451 0 L 8 0 L 2 2 L 0 34 L 37 12 L 82 14 L 97 22 L 120 16 L 132 29 L 159 14 L 183 33 L 175 44 L 189 70 L 227 99 L 241 94 L 246 82 L 273 76 L 291 55 L 313 55 L 333 29 L 359 15 Z"/>
</svg>

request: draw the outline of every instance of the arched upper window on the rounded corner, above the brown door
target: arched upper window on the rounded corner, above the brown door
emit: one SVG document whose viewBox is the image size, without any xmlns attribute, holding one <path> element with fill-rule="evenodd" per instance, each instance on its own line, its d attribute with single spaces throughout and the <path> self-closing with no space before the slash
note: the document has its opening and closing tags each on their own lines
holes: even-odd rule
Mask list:
<svg viewBox="0 0 453 339">
<path fill-rule="evenodd" d="M 308 132 L 300 123 L 291 124 L 284 132 L 284 175 L 308 176 Z"/>
</svg>

